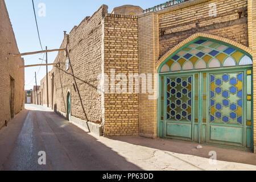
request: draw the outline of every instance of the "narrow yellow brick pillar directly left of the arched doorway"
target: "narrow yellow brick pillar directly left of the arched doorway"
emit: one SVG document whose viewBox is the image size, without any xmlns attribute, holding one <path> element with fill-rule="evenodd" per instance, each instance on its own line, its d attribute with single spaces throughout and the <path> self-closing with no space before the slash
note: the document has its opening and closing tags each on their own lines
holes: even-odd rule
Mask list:
<svg viewBox="0 0 256 182">
<path fill-rule="evenodd" d="M 139 74 L 155 73 L 159 59 L 159 23 L 156 13 L 139 15 Z M 155 88 L 157 89 L 157 88 Z M 148 100 L 148 94 L 139 94 L 139 135 L 155 138 L 157 135 L 157 100 Z"/>
</svg>

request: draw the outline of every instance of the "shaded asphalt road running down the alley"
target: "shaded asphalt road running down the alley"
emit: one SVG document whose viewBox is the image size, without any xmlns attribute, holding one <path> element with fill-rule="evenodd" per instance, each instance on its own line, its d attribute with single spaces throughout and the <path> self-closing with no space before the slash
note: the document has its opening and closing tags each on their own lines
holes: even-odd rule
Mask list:
<svg viewBox="0 0 256 182">
<path fill-rule="evenodd" d="M 141 170 L 59 115 L 27 107 L 0 131 L 0 170 Z"/>
</svg>

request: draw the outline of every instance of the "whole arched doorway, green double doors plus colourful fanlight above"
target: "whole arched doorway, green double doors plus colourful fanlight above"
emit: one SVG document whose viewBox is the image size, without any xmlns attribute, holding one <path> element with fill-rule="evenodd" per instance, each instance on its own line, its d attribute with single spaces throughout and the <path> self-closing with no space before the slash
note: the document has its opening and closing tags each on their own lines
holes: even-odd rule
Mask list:
<svg viewBox="0 0 256 182">
<path fill-rule="evenodd" d="M 160 65 L 158 136 L 253 148 L 252 57 L 199 37 Z"/>
</svg>

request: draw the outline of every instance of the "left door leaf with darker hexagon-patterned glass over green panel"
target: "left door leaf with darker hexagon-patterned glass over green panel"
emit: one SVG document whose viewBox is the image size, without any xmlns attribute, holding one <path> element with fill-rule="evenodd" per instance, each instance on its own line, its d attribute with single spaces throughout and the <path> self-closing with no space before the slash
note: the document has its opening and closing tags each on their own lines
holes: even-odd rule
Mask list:
<svg viewBox="0 0 256 182">
<path fill-rule="evenodd" d="M 193 76 L 166 77 L 167 138 L 192 140 Z"/>
</svg>

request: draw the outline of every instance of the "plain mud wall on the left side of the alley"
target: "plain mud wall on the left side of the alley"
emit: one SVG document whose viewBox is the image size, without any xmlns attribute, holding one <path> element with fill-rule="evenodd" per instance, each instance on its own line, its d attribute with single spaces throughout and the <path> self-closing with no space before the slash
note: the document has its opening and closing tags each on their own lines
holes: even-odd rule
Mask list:
<svg viewBox="0 0 256 182">
<path fill-rule="evenodd" d="M 21 57 L 13 57 L 9 53 L 19 53 L 13 27 L 11 26 L 9 14 L 5 1 L 0 1 L 0 129 L 5 121 L 10 120 L 10 113 L 18 114 L 24 108 L 24 65 Z M 10 109 L 10 87 L 13 79 L 14 94 L 11 98 L 13 107 Z"/>
</svg>

